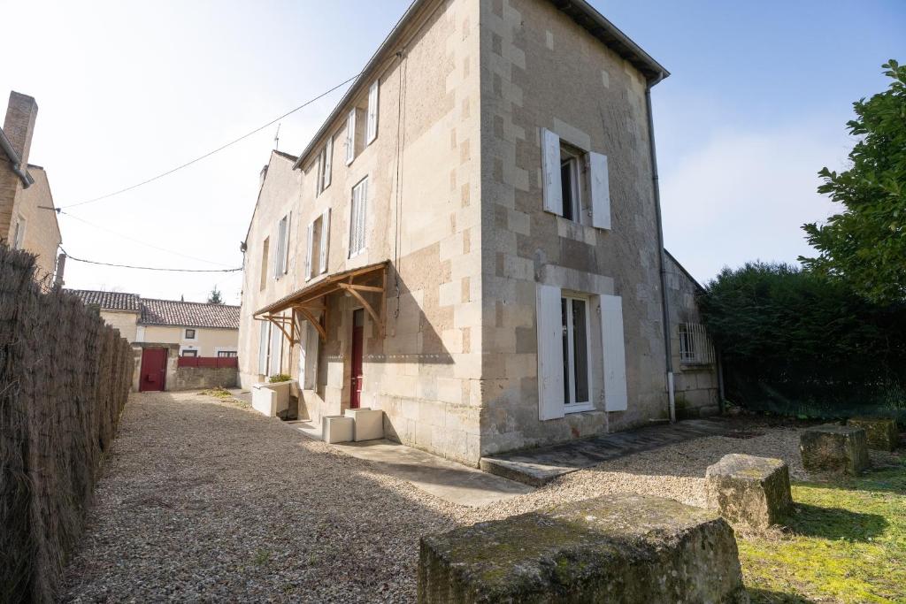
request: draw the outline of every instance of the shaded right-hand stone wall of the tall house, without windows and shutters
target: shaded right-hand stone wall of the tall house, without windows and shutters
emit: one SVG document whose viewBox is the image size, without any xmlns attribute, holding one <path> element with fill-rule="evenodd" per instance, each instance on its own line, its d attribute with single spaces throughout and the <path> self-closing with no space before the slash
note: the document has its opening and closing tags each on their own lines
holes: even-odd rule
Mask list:
<svg viewBox="0 0 906 604">
<path fill-rule="evenodd" d="M 646 82 L 553 3 L 480 4 L 481 453 L 663 419 L 668 413 L 666 361 Z M 610 230 L 544 211 L 542 128 L 608 157 Z M 622 297 L 625 411 L 604 410 L 602 344 L 600 328 L 595 341 L 593 318 L 593 410 L 539 419 L 538 284 Z"/>
</svg>

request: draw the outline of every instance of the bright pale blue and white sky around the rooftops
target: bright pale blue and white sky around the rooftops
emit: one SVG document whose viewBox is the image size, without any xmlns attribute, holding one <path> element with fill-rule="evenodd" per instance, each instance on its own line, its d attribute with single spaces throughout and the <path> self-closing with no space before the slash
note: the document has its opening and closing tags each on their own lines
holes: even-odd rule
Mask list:
<svg viewBox="0 0 906 604">
<path fill-rule="evenodd" d="M 814 191 L 816 172 L 843 167 L 852 102 L 886 86 L 882 62 L 906 61 L 906 2 L 592 4 L 671 72 L 653 92 L 670 251 L 702 282 L 724 265 L 808 254 L 799 226 L 834 211 Z M 408 5 L 0 0 L 2 104 L 10 90 L 37 100 L 30 160 L 68 206 L 198 157 L 346 80 Z M 280 149 L 300 152 L 341 94 L 283 120 Z M 73 208 L 60 217 L 64 248 L 118 264 L 240 266 L 274 136 L 266 129 Z M 190 301 L 217 284 L 238 303 L 241 276 L 71 262 L 66 284 Z"/>
</svg>

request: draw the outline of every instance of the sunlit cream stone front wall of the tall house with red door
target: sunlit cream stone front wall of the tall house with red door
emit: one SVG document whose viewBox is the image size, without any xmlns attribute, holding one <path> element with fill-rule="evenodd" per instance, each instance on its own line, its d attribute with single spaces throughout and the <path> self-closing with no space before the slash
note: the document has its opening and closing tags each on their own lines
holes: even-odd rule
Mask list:
<svg viewBox="0 0 906 604">
<path fill-rule="evenodd" d="M 293 178 L 286 175 L 278 176 L 272 189 L 272 158 L 247 241 L 240 353 L 244 386 L 263 379 L 252 369 L 259 328 L 251 313 L 323 279 L 306 282 L 302 269 L 307 225 L 330 208 L 326 275 L 390 260 L 386 335 L 381 337 L 370 317 L 365 323 L 362 406 L 385 411 L 389 436 L 471 464 L 477 464 L 480 449 L 482 397 L 478 11 L 476 0 L 423 5 L 402 34 L 404 57 L 391 52 L 381 63 L 378 136 L 350 166 L 343 155 L 345 112 L 332 124 L 332 183 L 320 196 L 315 175 L 325 138 L 296 171 L 303 175 L 297 197 L 291 193 Z M 354 102 L 363 104 L 367 94 L 366 85 Z M 369 178 L 367 245 L 350 258 L 352 187 L 363 177 Z M 268 199 L 280 209 L 263 209 Z M 288 207 L 294 212 L 294 281 L 287 283 L 293 286 L 268 277 L 263 295 L 261 245 L 271 234 L 273 254 L 276 223 Z M 379 295 L 367 298 L 381 309 Z M 328 299 L 328 338 L 318 347 L 316 384 L 301 392 L 300 407 L 315 421 L 349 406 L 357 305 L 342 295 Z M 284 350 L 283 357 L 284 369 L 298 376 L 298 347 Z"/>
</svg>

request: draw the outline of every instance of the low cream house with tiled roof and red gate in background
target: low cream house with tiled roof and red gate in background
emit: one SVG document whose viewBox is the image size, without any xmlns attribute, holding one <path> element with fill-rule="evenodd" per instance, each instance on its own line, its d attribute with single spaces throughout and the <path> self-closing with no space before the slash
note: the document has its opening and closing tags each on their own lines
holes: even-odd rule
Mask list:
<svg viewBox="0 0 906 604">
<path fill-rule="evenodd" d="M 237 366 L 238 306 L 153 300 L 136 293 L 67 291 L 97 306 L 101 318 L 137 350 L 136 390 L 178 388 L 186 381 L 178 367 Z"/>
</svg>

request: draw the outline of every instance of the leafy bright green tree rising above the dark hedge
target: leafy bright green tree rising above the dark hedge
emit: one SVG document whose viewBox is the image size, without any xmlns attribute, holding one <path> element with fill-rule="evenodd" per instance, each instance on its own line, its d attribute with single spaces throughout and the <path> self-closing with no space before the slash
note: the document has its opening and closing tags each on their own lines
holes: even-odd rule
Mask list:
<svg viewBox="0 0 906 604">
<path fill-rule="evenodd" d="M 818 192 L 845 209 L 825 225 L 803 226 L 819 254 L 799 260 L 872 301 L 893 302 L 906 299 L 906 67 L 893 60 L 882 67 L 889 88 L 853 103 L 847 128 L 860 139 L 851 167 L 818 173 Z"/>
</svg>

